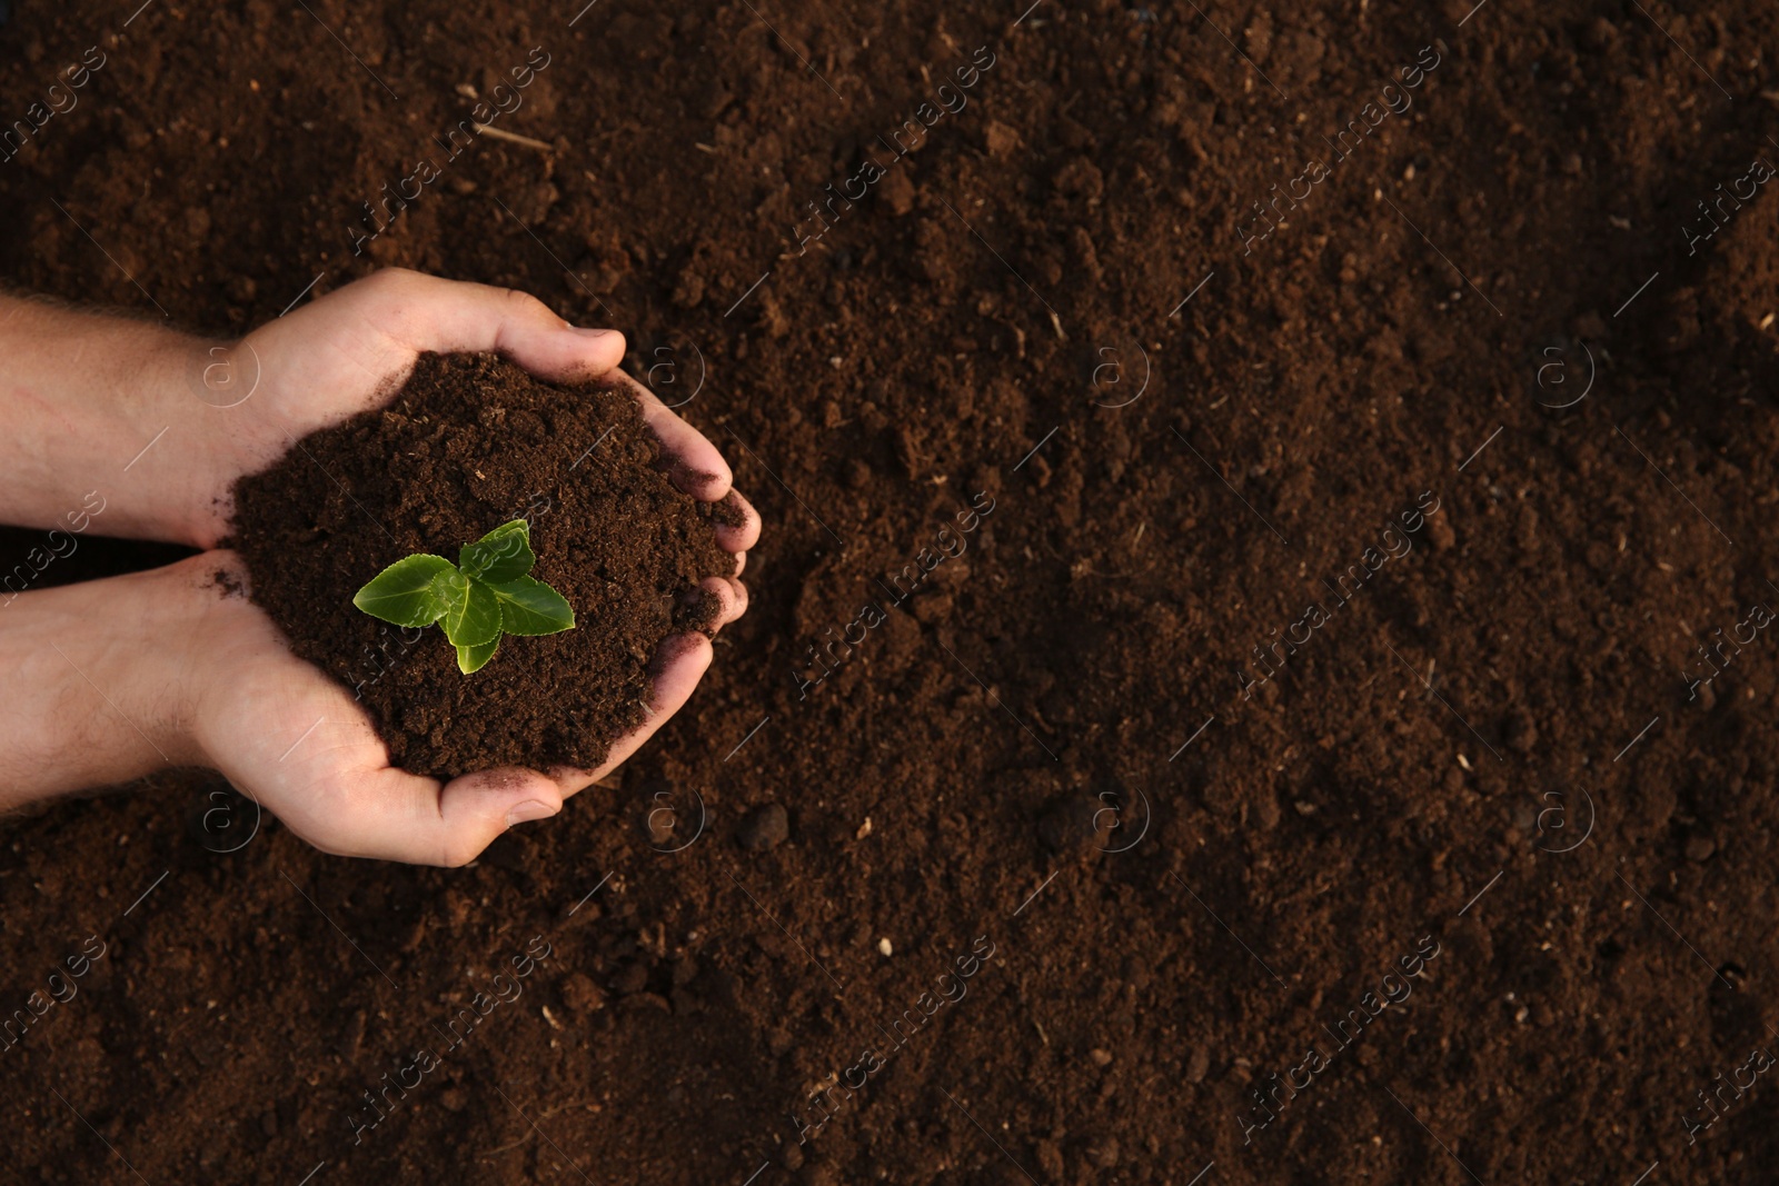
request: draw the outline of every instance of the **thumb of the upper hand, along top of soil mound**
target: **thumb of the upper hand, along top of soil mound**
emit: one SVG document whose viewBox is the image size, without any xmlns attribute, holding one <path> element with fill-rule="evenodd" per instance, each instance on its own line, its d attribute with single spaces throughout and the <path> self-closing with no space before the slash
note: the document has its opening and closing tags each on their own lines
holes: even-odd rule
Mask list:
<svg viewBox="0 0 1779 1186">
<path fill-rule="evenodd" d="M 569 325 L 516 288 L 384 268 L 340 295 L 361 302 L 365 317 L 406 347 L 438 354 L 496 352 L 539 379 L 584 382 L 624 359 L 621 333 Z"/>
</svg>

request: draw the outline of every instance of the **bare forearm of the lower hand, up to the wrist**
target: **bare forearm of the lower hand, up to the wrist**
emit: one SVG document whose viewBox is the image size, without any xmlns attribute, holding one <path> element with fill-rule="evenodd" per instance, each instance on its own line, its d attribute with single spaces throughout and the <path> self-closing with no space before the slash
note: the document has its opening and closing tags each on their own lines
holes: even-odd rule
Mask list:
<svg viewBox="0 0 1779 1186">
<path fill-rule="evenodd" d="M 157 573 L 0 594 L 0 811 L 194 761 Z"/>
</svg>

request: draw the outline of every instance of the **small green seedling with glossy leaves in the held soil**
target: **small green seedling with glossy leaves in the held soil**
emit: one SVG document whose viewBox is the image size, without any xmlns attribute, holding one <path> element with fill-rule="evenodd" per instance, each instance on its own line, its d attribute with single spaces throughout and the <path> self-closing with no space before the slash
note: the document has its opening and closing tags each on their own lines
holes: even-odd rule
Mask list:
<svg viewBox="0 0 1779 1186">
<path fill-rule="evenodd" d="M 530 576 L 535 564 L 532 528 L 514 519 L 464 544 L 457 564 L 427 553 L 397 560 L 352 605 L 397 626 L 438 622 L 457 647 L 457 670 L 468 676 L 495 658 L 502 635 L 575 629 L 568 599 Z"/>
</svg>

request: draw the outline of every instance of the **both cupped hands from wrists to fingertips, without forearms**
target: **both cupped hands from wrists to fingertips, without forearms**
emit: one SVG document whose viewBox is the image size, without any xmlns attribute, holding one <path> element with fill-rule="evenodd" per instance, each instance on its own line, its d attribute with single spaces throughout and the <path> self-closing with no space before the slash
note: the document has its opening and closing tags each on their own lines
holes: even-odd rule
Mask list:
<svg viewBox="0 0 1779 1186">
<path fill-rule="evenodd" d="M 388 404 L 423 352 L 498 352 L 539 379 L 591 381 L 616 372 L 624 340 L 580 329 L 534 297 L 416 272 L 377 272 L 251 333 L 228 352 L 231 382 L 249 393 L 219 407 L 208 430 L 208 503 L 194 539 L 215 546 L 229 530 L 235 478 L 278 461 L 297 439 Z M 738 525 L 717 525 L 735 555 L 717 597 L 720 628 L 747 610 L 740 573 L 760 516 L 733 491 L 728 462 L 701 432 L 646 388 L 616 372 L 662 443 L 672 482 L 701 501 L 729 501 Z M 653 736 L 710 667 L 704 635 L 667 638 L 655 656 L 649 718 L 612 743 L 598 770 L 484 770 L 450 782 L 390 765 L 388 747 L 350 692 L 297 660 L 270 619 L 246 597 L 222 597 L 213 574 L 246 583 L 238 557 L 212 551 L 165 571 L 194 599 L 203 628 L 190 637 L 185 709 L 192 743 L 238 789 L 315 846 L 359 857 L 463 864 L 512 823 L 551 816 Z M 712 633 L 715 633 L 715 628 Z"/>
</svg>

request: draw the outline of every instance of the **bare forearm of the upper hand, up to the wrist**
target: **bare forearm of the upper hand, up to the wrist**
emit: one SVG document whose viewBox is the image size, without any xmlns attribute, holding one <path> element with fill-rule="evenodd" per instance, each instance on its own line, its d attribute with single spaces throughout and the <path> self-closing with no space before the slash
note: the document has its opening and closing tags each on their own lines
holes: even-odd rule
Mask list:
<svg viewBox="0 0 1779 1186">
<path fill-rule="evenodd" d="M 0 521 L 192 542 L 203 365 L 162 325 L 0 295 Z"/>
</svg>

